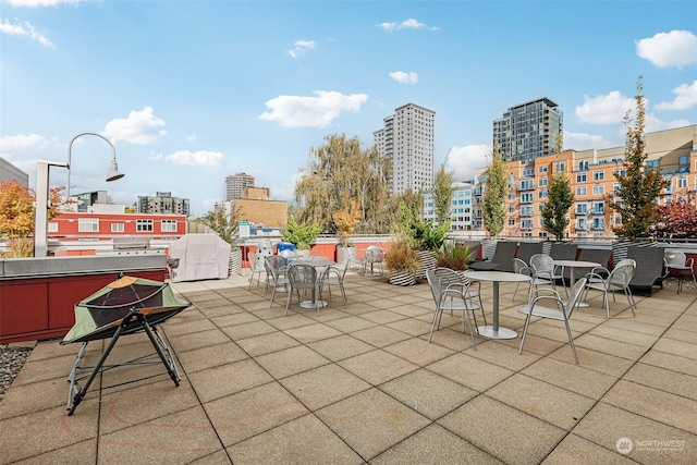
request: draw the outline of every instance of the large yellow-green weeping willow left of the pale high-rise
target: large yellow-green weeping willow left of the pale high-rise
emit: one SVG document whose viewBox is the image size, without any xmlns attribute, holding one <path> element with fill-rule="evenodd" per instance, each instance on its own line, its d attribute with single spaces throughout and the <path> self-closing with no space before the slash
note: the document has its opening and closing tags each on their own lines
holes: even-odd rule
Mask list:
<svg viewBox="0 0 697 465">
<path fill-rule="evenodd" d="M 376 147 L 365 149 L 358 137 L 345 134 L 325 137 L 325 144 L 310 149 L 308 171 L 295 185 L 295 219 L 320 223 L 337 232 L 333 215 L 357 203 L 360 222 L 356 232 L 386 232 L 389 225 L 391 164 Z"/>
</svg>

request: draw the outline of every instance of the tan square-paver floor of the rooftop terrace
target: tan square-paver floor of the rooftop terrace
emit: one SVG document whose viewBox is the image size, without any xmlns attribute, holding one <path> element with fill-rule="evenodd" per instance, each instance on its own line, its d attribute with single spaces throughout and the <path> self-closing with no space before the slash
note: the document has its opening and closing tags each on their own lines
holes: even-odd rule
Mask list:
<svg viewBox="0 0 697 465">
<path fill-rule="evenodd" d="M 350 276 L 347 308 L 334 290 L 319 314 L 294 302 L 289 316 L 285 294 L 269 308 L 243 277 L 174 289 L 193 304 L 161 327 L 181 386 L 107 389 L 162 367 L 110 370 L 69 417 L 80 346 L 40 342 L 0 402 L 0 463 L 697 463 L 694 290 L 639 296 L 635 318 L 617 295 L 612 319 L 591 292 L 571 322 L 576 366 L 550 321 L 530 325 L 522 355 L 519 335 L 477 338 L 475 351 L 458 316 L 429 344 L 426 282 Z M 511 302 L 513 289 L 501 285 L 501 326 L 519 333 L 525 292 Z M 491 284 L 482 292 L 491 308 Z M 147 345 L 124 338 L 111 362 Z"/>
</svg>

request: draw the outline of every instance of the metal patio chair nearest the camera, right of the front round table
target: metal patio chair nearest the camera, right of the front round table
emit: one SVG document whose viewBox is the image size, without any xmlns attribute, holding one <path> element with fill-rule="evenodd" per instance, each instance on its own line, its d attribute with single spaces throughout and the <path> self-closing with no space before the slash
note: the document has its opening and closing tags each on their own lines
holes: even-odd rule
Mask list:
<svg viewBox="0 0 697 465">
<path fill-rule="evenodd" d="M 518 311 L 521 314 L 526 315 L 525 328 L 523 329 L 523 336 L 521 338 L 518 354 L 523 353 L 523 344 L 525 344 L 525 336 L 527 335 L 527 329 L 530 325 L 530 317 L 549 318 L 557 321 L 564 321 L 564 326 L 566 327 L 566 334 L 568 335 L 568 343 L 571 344 L 571 348 L 574 352 L 576 365 L 578 365 L 578 355 L 576 355 L 574 336 L 571 333 L 568 320 L 585 286 L 586 278 L 582 278 L 576 281 L 574 286 L 571 289 L 570 296 L 566 301 L 562 301 L 557 290 L 549 287 L 540 287 L 535 290 L 528 305 L 523 305 L 518 308 Z M 542 302 L 552 302 L 555 305 L 552 308 L 539 305 Z"/>
</svg>

